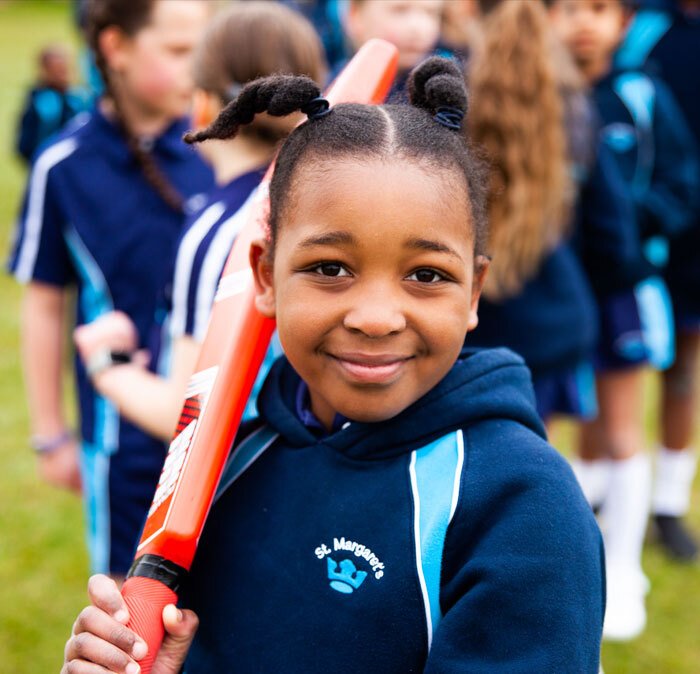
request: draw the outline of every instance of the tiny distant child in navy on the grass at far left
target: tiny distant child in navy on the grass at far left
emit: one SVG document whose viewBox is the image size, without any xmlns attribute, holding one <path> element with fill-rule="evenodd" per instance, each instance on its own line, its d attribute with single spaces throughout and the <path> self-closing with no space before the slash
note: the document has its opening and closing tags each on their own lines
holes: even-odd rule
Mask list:
<svg viewBox="0 0 700 674">
<path fill-rule="evenodd" d="M 44 141 L 86 108 L 83 97 L 71 89 L 69 56 L 63 46 L 44 47 L 38 66 L 39 76 L 27 94 L 17 134 L 17 152 L 27 163 Z"/>
</svg>

